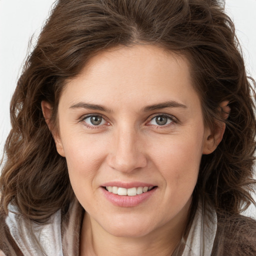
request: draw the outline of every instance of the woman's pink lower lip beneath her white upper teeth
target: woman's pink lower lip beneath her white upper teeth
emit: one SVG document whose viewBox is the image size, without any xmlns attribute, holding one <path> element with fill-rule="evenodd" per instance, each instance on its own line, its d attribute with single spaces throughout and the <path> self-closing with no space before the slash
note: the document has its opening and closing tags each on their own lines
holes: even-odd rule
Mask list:
<svg viewBox="0 0 256 256">
<path fill-rule="evenodd" d="M 121 207 L 133 207 L 136 206 L 145 200 L 147 200 L 150 196 L 154 194 L 156 191 L 156 188 L 153 188 L 147 192 L 144 192 L 142 194 L 137 194 L 133 196 L 129 195 L 118 195 L 114 193 L 108 192 L 104 187 L 101 187 L 101 190 L 106 197 L 108 201 L 113 203 L 116 206 L 121 206 Z"/>
</svg>

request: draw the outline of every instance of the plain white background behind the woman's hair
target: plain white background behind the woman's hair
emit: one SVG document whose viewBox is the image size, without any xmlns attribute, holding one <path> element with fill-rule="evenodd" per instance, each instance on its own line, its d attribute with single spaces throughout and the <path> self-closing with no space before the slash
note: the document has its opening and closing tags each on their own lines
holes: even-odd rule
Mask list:
<svg viewBox="0 0 256 256">
<path fill-rule="evenodd" d="M 39 34 L 53 0 L 0 0 L 0 157 L 10 129 L 9 101 L 29 38 Z M 248 75 L 256 79 L 256 0 L 226 0 L 242 45 Z"/>
</svg>

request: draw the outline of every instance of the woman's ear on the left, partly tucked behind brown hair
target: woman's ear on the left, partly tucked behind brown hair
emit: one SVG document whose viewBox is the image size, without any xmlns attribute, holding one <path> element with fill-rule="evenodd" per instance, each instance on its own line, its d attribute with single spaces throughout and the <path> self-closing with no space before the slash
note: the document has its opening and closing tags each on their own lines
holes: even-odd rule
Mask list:
<svg viewBox="0 0 256 256">
<path fill-rule="evenodd" d="M 51 117 L 51 114 L 52 114 L 52 107 L 51 107 L 51 105 L 48 101 L 42 100 L 41 101 L 41 108 L 42 108 L 42 114 L 43 114 L 43 117 L 45 119 L 45 122 L 47 123 L 48 128 L 49 128 L 49 130 L 50 130 L 50 132 L 53 136 L 53 139 L 55 141 L 57 152 L 61 156 L 64 157 L 65 154 L 64 154 L 61 138 L 59 136 L 59 132 L 56 131 L 55 127 L 52 126 L 52 123 L 50 121 L 50 117 Z"/>
</svg>

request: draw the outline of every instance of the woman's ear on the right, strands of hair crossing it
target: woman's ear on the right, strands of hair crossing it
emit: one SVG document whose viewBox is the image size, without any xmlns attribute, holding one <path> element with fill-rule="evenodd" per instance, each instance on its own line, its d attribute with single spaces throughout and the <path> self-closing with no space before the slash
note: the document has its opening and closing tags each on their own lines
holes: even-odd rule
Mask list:
<svg viewBox="0 0 256 256">
<path fill-rule="evenodd" d="M 220 117 L 227 119 L 230 107 L 227 105 L 229 102 L 227 100 L 222 101 L 219 105 Z M 212 132 L 209 127 L 205 129 L 204 132 L 204 144 L 203 144 L 203 154 L 210 154 L 213 152 L 220 141 L 222 140 L 224 131 L 225 131 L 224 121 L 216 121 L 214 125 L 214 131 Z"/>
</svg>

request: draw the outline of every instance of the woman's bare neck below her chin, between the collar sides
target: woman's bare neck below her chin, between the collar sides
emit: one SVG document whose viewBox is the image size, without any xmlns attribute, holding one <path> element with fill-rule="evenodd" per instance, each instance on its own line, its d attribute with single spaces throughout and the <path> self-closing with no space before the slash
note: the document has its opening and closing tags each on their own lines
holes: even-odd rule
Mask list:
<svg viewBox="0 0 256 256">
<path fill-rule="evenodd" d="M 165 224 L 139 237 L 112 235 L 85 213 L 80 237 L 80 256 L 103 256 L 106 251 L 113 256 L 171 255 L 184 233 L 188 211 L 187 208 L 184 216 L 177 216 L 175 224 Z"/>
</svg>

